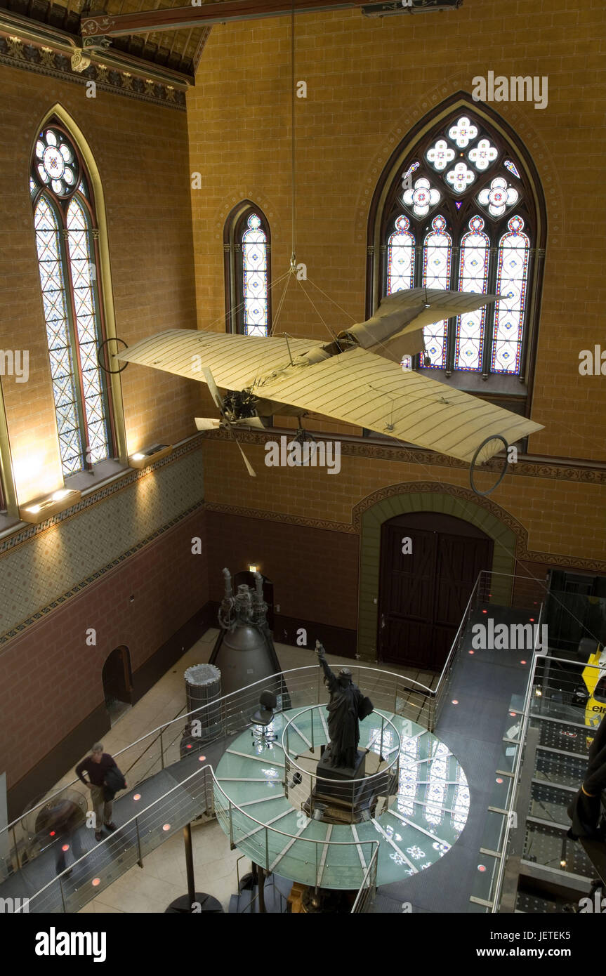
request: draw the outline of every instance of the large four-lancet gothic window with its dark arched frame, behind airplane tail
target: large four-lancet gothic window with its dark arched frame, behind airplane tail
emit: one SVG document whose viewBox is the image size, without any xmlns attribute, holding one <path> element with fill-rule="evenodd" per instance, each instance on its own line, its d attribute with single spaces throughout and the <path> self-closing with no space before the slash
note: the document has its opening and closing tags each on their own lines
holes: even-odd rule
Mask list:
<svg viewBox="0 0 606 976">
<path fill-rule="evenodd" d="M 369 221 L 371 314 L 404 288 L 501 297 L 424 329 L 424 356 L 403 365 L 441 371 L 455 386 L 523 399 L 532 367 L 545 219 L 532 161 L 484 106 L 454 99 L 395 150 Z M 542 224 L 539 228 L 539 224 Z"/>
</svg>

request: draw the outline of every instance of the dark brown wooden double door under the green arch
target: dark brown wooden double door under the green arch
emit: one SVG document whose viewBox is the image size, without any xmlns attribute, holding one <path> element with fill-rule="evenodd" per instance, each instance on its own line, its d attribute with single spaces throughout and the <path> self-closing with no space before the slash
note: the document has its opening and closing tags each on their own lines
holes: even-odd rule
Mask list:
<svg viewBox="0 0 606 976">
<path fill-rule="evenodd" d="M 441 671 L 477 575 L 492 560 L 492 539 L 461 518 L 426 511 L 385 522 L 379 660 Z"/>
</svg>

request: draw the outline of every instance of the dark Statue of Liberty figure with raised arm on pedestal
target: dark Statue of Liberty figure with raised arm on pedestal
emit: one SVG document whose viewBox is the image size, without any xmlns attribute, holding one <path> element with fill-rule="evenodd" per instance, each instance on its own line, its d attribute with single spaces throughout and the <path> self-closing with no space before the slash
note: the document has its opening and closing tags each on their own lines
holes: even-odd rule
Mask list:
<svg viewBox="0 0 606 976">
<path fill-rule="evenodd" d="M 331 696 L 326 707 L 330 744 L 324 751 L 321 765 L 357 770 L 360 720 L 370 715 L 373 711 L 373 703 L 369 698 L 365 698 L 358 686 L 353 683 L 348 668 L 342 668 L 339 674 L 331 671 L 326 661 L 326 652 L 318 640 L 315 642 L 315 653 L 318 656 L 318 664 L 324 671 L 324 683 Z M 320 775 L 319 769 L 318 775 Z"/>
</svg>

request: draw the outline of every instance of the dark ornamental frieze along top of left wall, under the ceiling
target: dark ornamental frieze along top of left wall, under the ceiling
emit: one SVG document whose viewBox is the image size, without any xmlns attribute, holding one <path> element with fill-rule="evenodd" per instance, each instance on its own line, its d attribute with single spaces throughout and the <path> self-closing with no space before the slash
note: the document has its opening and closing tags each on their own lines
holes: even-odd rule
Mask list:
<svg viewBox="0 0 606 976">
<path fill-rule="evenodd" d="M 113 56 L 110 58 L 107 52 L 107 60 L 117 59 Z M 157 71 L 153 65 L 149 64 L 149 68 L 147 65 L 141 66 L 139 77 L 132 67 L 130 70 L 121 70 L 117 66 L 96 61 L 89 61 L 87 65 L 86 61 L 89 59 L 83 58 L 82 53 L 75 47 L 67 47 L 66 50 L 60 51 L 42 42 L 36 44 L 31 40 L 21 40 L 17 36 L 0 34 L 0 64 L 35 71 L 37 74 L 71 81 L 77 85 L 86 85 L 93 81 L 104 92 L 113 92 L 140 102 L 152 102 L 185 111 L 184 91 L 178 87 L 177 82 L 171 85 L 158 80 L 157 77 L 154 78 L 153 75 L 157 75 Z"/>
</svg>

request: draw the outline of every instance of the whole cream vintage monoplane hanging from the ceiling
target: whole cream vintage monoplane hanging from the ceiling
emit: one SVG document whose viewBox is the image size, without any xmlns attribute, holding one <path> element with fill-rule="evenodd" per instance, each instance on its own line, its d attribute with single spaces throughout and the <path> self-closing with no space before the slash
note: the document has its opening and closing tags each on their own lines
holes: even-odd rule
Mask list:
<svg viewBox="0 0 606 976">
<path fill-rule="evenodd" d="M 273 414 L 320 414 L 482 464 L 542 425 L 400 363 L 424 351 L 425 326 L 498 298 L 412 288 L 384 298 L 371 318 L 329 343 L 172 329 L 115 358 L 208 383 L 221 419 L 196 418 L 200 430 L 233 433 L 265 427 Z"/>
</svg>

